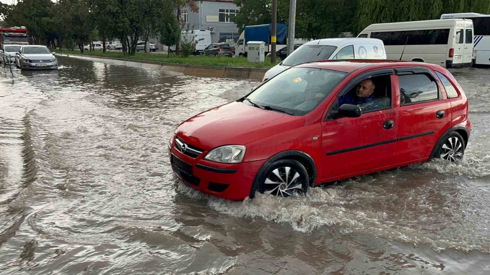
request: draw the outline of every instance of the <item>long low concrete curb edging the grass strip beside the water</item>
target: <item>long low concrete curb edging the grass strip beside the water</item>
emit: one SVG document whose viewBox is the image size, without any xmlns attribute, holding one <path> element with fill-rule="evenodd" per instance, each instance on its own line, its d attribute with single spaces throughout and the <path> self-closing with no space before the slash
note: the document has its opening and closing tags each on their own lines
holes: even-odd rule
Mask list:
<svg viewBox="0 0 490 275">
<path fill-rule="evenodd" d="M 232 78 L 247 78 L 262 80 L 264 74 L 269 69 L 260 68 L 245 68 L 245 67 L 212 67 L 212 66 L 199 66 L 191 64 L 177 64 L 177 63 L 165 63 L 155 61 L 143 61 L 135 59 L 109 57 L 102 58 L 101 56 L 81 55 L 81 54 L 63 54 L 57 53 L 56 55 L 65 57 L 77 57 L 82 59 L 96 59 L 97 61 L 104 61 L 115 65 L 125 65 L 132 67 L 139 67 L 145 69 L 160 69 L 182 72 L 188 75 L 198 76 L 211 76 L 211 77 L 232 77 Z"/>
</svg>

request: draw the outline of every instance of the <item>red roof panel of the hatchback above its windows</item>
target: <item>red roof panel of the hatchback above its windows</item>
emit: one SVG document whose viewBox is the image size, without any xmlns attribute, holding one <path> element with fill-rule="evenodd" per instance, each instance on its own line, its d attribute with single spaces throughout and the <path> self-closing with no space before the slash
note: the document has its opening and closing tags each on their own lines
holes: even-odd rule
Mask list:
<svg viewBox="0 0 490 275">
<path fill-rule="evenodd" d="M 302 63 L 295 67 L 332 69 L 343 72 L 352 72 L 357 69 L 372 67 L 372 69 L 389 66 L 423 66 L 428 68 L 441 67 L 439 65 L 428 64 L 414 61 L 399 60 L 380 60 L 380 59 L 339 59 L 339 60 L 321 60 L 310 63 Z"/>
</svg>

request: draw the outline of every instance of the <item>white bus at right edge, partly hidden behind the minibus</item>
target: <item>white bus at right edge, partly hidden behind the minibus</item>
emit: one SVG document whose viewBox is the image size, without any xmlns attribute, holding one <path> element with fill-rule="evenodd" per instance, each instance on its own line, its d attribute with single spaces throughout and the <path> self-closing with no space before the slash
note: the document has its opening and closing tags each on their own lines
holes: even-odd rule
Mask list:
<svg viewBox="0 0 490 275">
<path fill-rule="evenodd" d="M 490 65 L 490 14 L 474 12 L 449 13 L 441 15 L 441 19 L 463 18 L 473 21 L 475 30 L 473 40 L 473 63 Z"/>
</svg>

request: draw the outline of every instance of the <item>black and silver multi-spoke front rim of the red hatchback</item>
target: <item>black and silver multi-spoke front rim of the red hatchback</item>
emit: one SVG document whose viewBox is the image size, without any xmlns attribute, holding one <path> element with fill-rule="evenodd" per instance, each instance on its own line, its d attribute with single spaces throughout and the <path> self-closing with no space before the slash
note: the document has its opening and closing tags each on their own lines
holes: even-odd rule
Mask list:
<svg viewBox="0 0 490 275">
<path fill-rule="evenodd" d="M 278 167 L 270 172 L 264 182 L 264 194 L 279 197 L 291 196 L 294 191 L 302 191 L 305 180 L 294 168 Z"/>
</svg>

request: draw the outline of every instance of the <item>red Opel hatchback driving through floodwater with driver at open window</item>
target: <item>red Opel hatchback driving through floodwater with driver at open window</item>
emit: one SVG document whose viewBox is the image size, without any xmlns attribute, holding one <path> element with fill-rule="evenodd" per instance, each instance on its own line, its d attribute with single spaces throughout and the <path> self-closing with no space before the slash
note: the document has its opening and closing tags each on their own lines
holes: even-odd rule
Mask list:
<svg viewBox="0 0 490 275">
<path fill-rule="evenodd" d="M 189 118 L 168 146 L 182 181 L 243 200 L 256 191 L 306 193 L 433 157 L 460 160 L 470 132 L 466 95 L 446 69 L 328 60 L 294 66 Z"/>
</svg>

